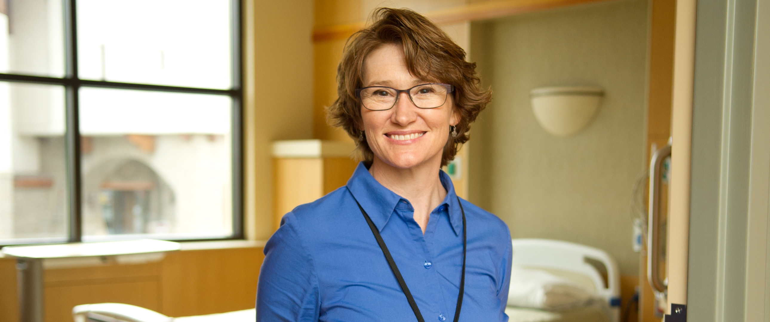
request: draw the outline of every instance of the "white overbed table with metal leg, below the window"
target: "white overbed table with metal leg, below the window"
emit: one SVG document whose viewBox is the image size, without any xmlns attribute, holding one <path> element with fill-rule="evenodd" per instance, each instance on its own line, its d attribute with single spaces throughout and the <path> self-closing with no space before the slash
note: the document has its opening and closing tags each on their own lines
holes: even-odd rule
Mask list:
<svg viewBox="0 0 770 322">
<path fill-rule="evenodd" d="M 2 252 L 16 257 L 18 304 L 21 322 L 43 322 L 43 260 L 72 257 L 102 257 L 179 250 L 179 243 L 166 240 L 122 240 L 92 243 L 8 246 Z"/>
</svg>

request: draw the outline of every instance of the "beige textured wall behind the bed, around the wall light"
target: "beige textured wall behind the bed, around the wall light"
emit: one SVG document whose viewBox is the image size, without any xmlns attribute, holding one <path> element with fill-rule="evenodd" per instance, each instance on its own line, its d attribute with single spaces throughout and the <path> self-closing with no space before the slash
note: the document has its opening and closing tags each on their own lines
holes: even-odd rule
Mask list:
<svg viewBox="0 0 770 322">
<path fill-rule="evenodd" d="M 638 272 L 630 202 L 644 166 L 645 1 L 518 15 L 472 26 L 471 52 L 494 102 L 474 127 L 470 201 L 514 238 L 551 238 L 607 250 Z M 557 138 L 537 124 L 529 91 L 600 86 L 594 121 Z"/>
</svg>

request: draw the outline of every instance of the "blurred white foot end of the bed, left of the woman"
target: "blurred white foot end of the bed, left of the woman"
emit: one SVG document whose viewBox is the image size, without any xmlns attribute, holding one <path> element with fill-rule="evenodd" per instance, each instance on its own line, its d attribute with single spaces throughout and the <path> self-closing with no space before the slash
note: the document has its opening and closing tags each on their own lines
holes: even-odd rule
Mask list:
<svg viewBox="0 0 770 322">
<path fill-rule="evenodd" d="M 154 310 L 135 305 L 99 303 L 74 307 L 72 317 L 75 322 L 256 322 L 256 311 L 249 309 L 192 317 L 166 317 Z"/>
</svg>

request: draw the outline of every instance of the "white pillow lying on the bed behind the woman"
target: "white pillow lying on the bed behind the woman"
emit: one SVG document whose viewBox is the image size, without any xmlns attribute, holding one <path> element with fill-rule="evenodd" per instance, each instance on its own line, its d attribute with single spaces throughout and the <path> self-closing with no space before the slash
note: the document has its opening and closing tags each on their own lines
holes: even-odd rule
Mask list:
<svg viewBox="0 0 770 322">
<path fill-rule="evenodd" d="M 567 310 L 587 305 L 594 294 L 571 280 L 544 270 L 511 267 L 508 305 L 542 310 Z"/>
</svg>

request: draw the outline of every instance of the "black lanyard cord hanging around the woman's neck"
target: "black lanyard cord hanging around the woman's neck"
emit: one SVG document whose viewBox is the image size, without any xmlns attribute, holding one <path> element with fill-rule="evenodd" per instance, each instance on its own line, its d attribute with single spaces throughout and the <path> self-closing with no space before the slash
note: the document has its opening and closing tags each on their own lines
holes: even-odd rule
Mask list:
<svg viewBox="0 0 770 322">
<path fill-rule="evenodd" d="M 409 291 L 409 287 L 407 287 L 407 282 L 405 282 L 403 277 L 401 277 L 401 272 L 398 270 L 396 262 L 393 261 L 393 257 L 390 256 L 390 251 L 387 250 L 383 236 L 380 236 L 380 231 L 377 230 L 377 226 L 374 226 L 372 219 L 369 217 L 367 212 L 363 210 L 363 207 L 360 203 L 358 203 L 358 200 L 356 200 L 356 203 L 358 204 L 358 209 L 360 209 L 361 213 L 363 214 L 363 218 L 367 220 L 369 228 L 374 234 L 374 238 L 377 240 L 377 243 L 380 244 L 380 249 L 383 250 L 385 259 L 387 260 L 388 265 L 390 265 L 390 270 L 393 271 L 393 275 L 396 276 L 396 280 L 398 280 L 398 283 L 401 286 L 401 290 L 403 290 L 403 294 L 407 296 L 407 301 L 409 301 L 409 306 L 412 307 L 414 316 L 417 317 L 417 321 L 425 322 L 423 315 L 420 314 L 420 309 L 417 307 L 417 302 L 414 301 L 414 297 L 412 297 L 412 293 Z M 467 234 L 465 232 L 465 210 L 463 210 L 463 205 L 460 203 L 460 197 L 457 197 L 457 204 L 460 205 L 460 212 L 463 213 L 463 273 L 462 277 L 460 277 L 460 293 L 457 294 L 457 307 L 454 309 L 454 322 L 460 320 L 460 307 L 463 306 L 463 294 L 465 293 L 465 251 L 468 243 Z"/>
</svg>

